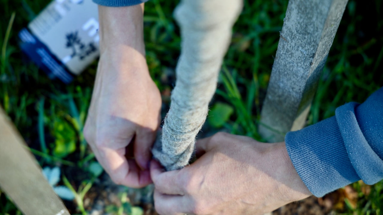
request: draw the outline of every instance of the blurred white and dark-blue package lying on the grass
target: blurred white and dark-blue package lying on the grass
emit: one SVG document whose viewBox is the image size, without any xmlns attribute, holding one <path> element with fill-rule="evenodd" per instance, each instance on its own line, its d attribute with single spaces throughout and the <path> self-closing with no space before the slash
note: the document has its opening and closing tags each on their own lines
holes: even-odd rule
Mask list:
<svg viewBox="0 0 383 215">
<path fill-rule="evenodd" d="M 54 0 L 20 31 L 20 47 L 51 79 L 72 81 L 99 55 L 92 0 Z"/>
</svg>

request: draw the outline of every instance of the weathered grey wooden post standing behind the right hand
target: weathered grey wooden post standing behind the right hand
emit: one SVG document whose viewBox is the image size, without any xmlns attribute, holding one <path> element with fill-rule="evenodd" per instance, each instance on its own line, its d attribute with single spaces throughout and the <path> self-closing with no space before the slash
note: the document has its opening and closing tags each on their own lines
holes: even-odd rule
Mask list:
<svg viewBox="0 0 383 215">
<path fill-rule="evenodd" d="M 347 1 L 289 1 L 259 125 L 268 142 L 303 128 Z"/>
</svg>

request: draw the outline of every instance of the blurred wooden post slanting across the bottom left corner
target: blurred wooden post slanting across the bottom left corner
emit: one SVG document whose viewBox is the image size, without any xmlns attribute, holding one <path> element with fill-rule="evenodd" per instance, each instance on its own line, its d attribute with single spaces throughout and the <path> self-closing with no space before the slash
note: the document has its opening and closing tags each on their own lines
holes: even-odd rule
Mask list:
<svg viewBox="0 0 383 215">
<path fill-rule="evenodd" d="M 69 215 L 0 107 L 0 187 L 25 215 Z"/>
</svg>

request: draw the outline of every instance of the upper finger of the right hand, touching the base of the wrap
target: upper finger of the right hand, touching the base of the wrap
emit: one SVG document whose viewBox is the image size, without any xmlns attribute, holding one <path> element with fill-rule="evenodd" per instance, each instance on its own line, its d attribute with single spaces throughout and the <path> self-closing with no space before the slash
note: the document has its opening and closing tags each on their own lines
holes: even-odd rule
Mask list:
<svg viewBox="0 0 383 215">
<path fill-rule="evenodd" d="M 179 175 L 180 170 L 165 171 L 159 162 L 152 160 L 150 163 L 150 175 L 155 189 L 163 194 L 184 195 L 182 187 L 183 176 Z"/>
</svg>

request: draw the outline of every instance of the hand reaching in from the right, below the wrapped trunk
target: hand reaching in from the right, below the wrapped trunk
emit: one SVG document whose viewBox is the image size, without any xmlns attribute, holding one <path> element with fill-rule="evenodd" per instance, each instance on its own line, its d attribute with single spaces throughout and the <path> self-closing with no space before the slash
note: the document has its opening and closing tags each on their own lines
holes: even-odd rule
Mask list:
<svg viewBox="0 0 383 215">
<path fill-rule="evenodd" d="M 217 133 L 196 143 L 190 166 L 164 172 L 151 162 L 155 209 L 162 215 L 261 215 L 311 195 L 285 144 Z"/>
</svg>

